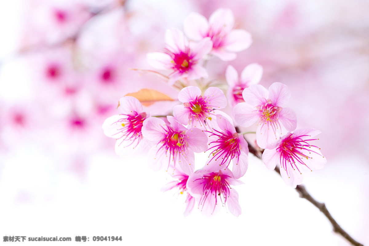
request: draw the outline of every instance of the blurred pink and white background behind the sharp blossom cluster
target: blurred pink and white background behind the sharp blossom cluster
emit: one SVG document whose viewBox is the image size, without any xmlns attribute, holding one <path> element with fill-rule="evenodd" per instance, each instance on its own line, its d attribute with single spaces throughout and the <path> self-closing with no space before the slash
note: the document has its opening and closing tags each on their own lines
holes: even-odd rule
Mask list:
<svg viewBox="0 0 369 246">
<path fill-rule="evenodd" d="M 369 2 L 366 0 L 13 0 L 0 2 L 0 236 L 122 236 L 127 245 L 349 245 L 317 208 L 250 155 L 236 187 L 242 214 L 211 218 L 160 188 L 144 155 L 114 153 L 104 119 L 120 97 L 178 91 L 151 74 L 146 53 L 190 12 L 231 8 L 253 44 L 207 64 L 264 68 L 287 84 L 298 128 L 320 129 L 326 167 L 307 190 L 354 239 L 369 244 Z M 160 110 L 152 105 L 147 111 Z M 198 156 L 201 163 L 206 158 Z M 75 242 L 73 242 L 75 243 Z M 100 242 L 99 242 L 100 243 Z M 32 244 L 32 242 L 27 242 Z"/>
</svg>

